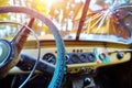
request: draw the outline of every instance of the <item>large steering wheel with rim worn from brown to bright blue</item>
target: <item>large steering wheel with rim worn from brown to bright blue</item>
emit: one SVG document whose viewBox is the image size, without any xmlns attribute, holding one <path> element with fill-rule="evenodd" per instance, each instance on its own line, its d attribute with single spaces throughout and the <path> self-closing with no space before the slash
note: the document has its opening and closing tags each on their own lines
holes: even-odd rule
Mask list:
<svg viewBox="0 0 132 88">
<path fill-rule="evenodd" d="M 48 88 L 59 88 L 65 72 L 65 45 L 57 28 L 50 19 L 35 10 L 25 7 L 0 7 L 0 13 L 9 12 L 29 14 L 41 20 L 52 31 L 57 46 L 57 62 Z M 30 33 L 28 30 L 25 31 L 20 31 L 19 34 L 16 34 L 18 37 L 14 37 L 15 40 L 13 38 L 12 42 L 0 40 L 0 77 L 4 77 L 8 72 L 18 64 L 19 54 L 26 42 L 25 33 L 26 35 Z"/>
</svg>

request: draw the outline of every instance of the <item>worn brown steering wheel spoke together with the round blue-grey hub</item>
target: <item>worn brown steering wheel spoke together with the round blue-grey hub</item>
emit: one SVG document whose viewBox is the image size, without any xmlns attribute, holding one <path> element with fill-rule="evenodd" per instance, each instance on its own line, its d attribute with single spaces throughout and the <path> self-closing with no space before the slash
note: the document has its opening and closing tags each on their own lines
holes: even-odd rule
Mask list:
<svg viewBox="0 0 132 88">
<path fill-rule="evenodd" d="M 31 19 L 28 24 L 32 28 L 34 19 Z M 19 54 L 26 42 L 30 30 L 25 26 L 19 31 L 14 38 L 9 42 L 6 40 L 0 40 L 0 78 L 7 76 L 8 72 L 14 67 L 19 62 Z"/>
</svg>

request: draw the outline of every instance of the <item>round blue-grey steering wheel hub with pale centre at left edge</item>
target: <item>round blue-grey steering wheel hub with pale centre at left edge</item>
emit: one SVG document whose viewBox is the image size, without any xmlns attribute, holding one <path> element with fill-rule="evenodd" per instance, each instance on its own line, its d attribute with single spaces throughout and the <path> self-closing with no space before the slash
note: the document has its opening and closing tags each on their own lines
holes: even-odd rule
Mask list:
<svg viewBox="0 0 132 88">
<path fill-rule="evenodd" d="M 8 41 L 0 40 L 0 66 L 6 64 L 9 56 L 11 55 L 11 45 Z"/>
</svg>

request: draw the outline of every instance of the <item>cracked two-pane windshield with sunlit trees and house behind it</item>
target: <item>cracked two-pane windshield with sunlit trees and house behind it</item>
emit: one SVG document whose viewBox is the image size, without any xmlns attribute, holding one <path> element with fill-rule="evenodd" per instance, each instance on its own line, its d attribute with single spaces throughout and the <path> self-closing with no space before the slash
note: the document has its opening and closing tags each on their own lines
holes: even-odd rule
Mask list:
<svg viewBox="0 0 132 88">
<path fill-rule="evenodd" d="M 37 10 L 50 18 L 58 28 L 64 40 L 131 43 L 131 7 L 129 0 L 4 0 L 0 6 L 22 6 Z M 82 11 L 88 7 L 87 13 Z M 131 4 L 130 4 L 131 6 Z M 0 21 L 26 24 L 29 15 L 1 14 Z M 85 18 L 82 15 L 86 14 Z M 77 32 L 82 22 L 79 38 Z M 0 23 L 0 37 L 11 40 L 22 26 Z M 33 30 L 40 40 L 54 40 L 52 32 L 42 22 L 35 21 Z M 29 41 L 34 37 L 29 37 Z"/>
</svg>

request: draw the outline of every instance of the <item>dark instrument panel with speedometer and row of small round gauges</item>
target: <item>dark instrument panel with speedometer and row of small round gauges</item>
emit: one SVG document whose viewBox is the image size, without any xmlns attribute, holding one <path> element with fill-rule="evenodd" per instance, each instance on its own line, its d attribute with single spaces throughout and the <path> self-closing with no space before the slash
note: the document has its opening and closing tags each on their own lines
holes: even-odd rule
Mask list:
<svg viewBox="0 0 132 88">
<path fill-rule="evenodd" d="M 50 64 L 56 64 L 56 56 L 52 53 L 46 53 L 43 58 Z M 66 64 L 82 64 L 82 63 L 94 63 L 96 62 L 96 56 L 94 53 L 67 53 Z"/>
</svg>

